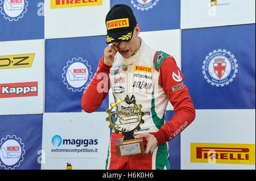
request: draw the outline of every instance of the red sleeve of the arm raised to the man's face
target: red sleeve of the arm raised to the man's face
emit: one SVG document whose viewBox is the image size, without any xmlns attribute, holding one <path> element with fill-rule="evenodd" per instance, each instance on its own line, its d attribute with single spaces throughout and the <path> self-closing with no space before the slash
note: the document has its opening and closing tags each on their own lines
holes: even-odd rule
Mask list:
<svg viewBox="0 0 256 181">
<path fill-rule="evenodd" d="M 94 112 L 101 106 L 109 92 L 109 72 L 111 66 L 104 64 L 104 56 L 98 64 L 98 70 L 82 94 L 81 106 L 85 112 Z"/>
</svg>

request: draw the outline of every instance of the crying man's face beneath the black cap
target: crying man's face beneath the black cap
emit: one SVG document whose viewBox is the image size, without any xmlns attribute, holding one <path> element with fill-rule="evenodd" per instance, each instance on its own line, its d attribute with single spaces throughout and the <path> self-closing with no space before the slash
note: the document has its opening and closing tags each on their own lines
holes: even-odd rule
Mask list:
<svg viewBox="0 0 256 181">
<path fill-rule="evenodd" d="M 129 58 L 133 55 L 134 52 L 138 51 L 139 49 L 139 26 L 137 25 L 134 28 L 133 37 L 130 41 L 119 41 L 113 43 L 113 45 L 117 46 L 118 52 L 122 54 L 123 57 Z"/>
</svg>

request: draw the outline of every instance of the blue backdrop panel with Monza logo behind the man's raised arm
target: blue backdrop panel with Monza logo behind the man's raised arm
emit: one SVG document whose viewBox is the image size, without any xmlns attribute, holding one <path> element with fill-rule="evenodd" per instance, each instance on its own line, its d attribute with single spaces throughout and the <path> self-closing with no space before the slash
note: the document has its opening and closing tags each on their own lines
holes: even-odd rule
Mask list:
<svg viewBox="0 0 256 181">
<path fill-rule="evenodd" d="M 45 112 L 81 112 L 86 85 L 104 55 L 106 36 L 46 40 Z M 108 109 L 108 96 L 97 111 Z"/>
</svg>

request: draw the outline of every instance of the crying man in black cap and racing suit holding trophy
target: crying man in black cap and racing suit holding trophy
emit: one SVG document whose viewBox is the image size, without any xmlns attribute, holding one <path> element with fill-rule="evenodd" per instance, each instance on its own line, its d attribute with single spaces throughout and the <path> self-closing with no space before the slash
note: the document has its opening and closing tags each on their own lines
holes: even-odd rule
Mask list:
<svg viewBox="0 0 256 181">
<path fill-rule="evenodd" d="M 105 48 L 98 70 L 82 95 L 82 109 L 96 111 L 109 89 L 115 100 L 126 96 L 135 98 L 145 115 L 141 130 L 134 133 L 136 138 L 143 137 L 146 146 L 143 155 L 117 157 L 115 140 L 123 136 L 113 131 L 106 169 L 170 169 L 168 141 L 195 119 L 183 74 L 174 57 L 148 47 L 138 36 L 139 24 L 129 6 L 113 6 L 106 16 L 106 27 L 106 43 L 112 44 Z M 168 100 L 174 106 L 175 115 L 164 123 Z"/>
</svg>

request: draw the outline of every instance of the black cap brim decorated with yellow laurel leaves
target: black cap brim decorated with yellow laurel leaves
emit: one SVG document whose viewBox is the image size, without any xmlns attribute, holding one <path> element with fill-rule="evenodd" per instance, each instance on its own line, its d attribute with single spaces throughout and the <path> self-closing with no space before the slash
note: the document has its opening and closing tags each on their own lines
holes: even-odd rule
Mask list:
<svg viewBox="0 0 256 181">
<path fill-rule="evenodd" d="M 133 30 L 109 32 L 106 35 L 106 44 L 110 44 L 118 41 L 130 41 L 133 37 Z"/>
</svg>

